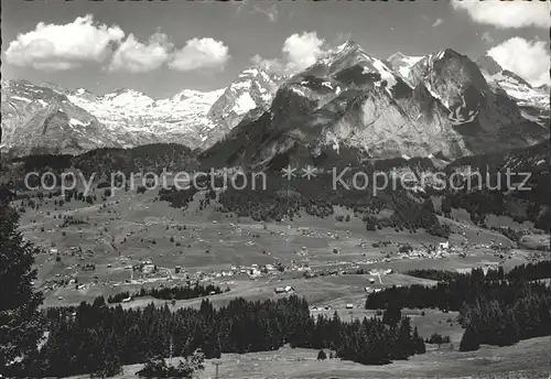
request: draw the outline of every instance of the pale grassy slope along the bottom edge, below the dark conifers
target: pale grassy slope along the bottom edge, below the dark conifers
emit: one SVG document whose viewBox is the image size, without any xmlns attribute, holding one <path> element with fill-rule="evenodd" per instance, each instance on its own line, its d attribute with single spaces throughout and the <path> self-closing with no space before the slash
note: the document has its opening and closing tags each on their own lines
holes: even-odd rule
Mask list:
<svg viewBox="0 0 551 379">
<path fill-rule="evenodd" d="M 450 351 L 446 347 L 439 349 L 433 346 L 424 355 L 383 367 L 366 367 L 339 359 L 320 361 L 316 355 L 316 350 L 289 347 L 270 353 L 223 355 L 219 376 L 236 379 L 541 379 L 550 373 L 549 337 L 503 348 L 485 346 L 476 353 Z M 196 378 L 215 378 L 214 361 L 207 360 L 205 370 Z M 141 367 L 125 366 L 125 373 L 115 378 L 136 378 Z"/>
</svg>

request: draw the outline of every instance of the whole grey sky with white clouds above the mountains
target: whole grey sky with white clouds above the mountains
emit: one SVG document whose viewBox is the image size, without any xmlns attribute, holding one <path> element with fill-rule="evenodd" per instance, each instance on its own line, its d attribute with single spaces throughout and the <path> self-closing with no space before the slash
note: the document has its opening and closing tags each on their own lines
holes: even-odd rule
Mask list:
<svg viewBox="0 0 551 379">
<path fill-rule="evenodd" d="M 2 0 L 2 76 L 160 98 L 227 86 L 246 66 L 295 71 L 354 40 L 379 58 L 489 53 L 549 83 L 550 3 L 526 1 Z"/>
</svg>

